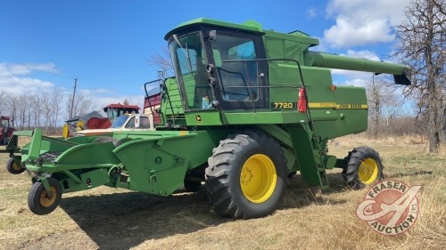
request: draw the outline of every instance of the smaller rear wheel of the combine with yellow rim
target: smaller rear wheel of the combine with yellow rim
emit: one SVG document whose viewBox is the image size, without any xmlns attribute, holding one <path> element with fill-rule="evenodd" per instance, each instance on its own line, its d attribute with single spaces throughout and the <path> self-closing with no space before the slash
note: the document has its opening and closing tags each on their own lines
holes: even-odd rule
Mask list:
<svg viewBox="0 0 446 250">
<path fill-rule="evenodd" d="M 374 149 L 355 148 L 344 160 L 343 180 L 353 189 L 363 189 L 384 178 L 384 165 Z"/>
</svg>

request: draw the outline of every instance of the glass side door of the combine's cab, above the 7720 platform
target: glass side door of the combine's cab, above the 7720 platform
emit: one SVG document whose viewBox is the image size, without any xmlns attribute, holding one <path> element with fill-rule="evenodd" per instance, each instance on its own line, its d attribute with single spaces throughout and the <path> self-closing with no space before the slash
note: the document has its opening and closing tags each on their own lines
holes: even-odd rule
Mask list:
<svg viewBox="0 0 446 250">
<path fill-rule="evenodd" d="M 205 32 L 209 33 L 211 29 Z M 215 98 L 222 109 L 266 109 L 268 103 L 265 50 L 260 35 L 216 30 L 208 42 L 218 85 Z"/>
</svg>

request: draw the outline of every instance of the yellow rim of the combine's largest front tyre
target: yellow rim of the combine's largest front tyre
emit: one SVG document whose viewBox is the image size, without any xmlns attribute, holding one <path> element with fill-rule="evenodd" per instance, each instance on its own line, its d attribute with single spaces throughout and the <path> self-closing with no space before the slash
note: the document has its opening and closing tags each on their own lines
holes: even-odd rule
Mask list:
<svg viewBox="0 0 446 250">
<path fill-rule="evenodd" d="M 261 154 L 249 157 L 240 173 L 240 186 L 244 197 L 253 203 L 262 203 L 273 194 L 277 183 L 273 161 Z"/>
</svg>

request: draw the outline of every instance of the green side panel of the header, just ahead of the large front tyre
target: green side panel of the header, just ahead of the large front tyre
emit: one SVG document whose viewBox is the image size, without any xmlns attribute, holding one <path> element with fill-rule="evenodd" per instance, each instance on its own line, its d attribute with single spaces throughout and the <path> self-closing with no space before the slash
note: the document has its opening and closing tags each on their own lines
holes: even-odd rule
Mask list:
<svg viewBox="0 0 446 250">
<path fill-rule="evenodd" d="M 130 190 L 168 196 L 181 185 L 188 169 L 207 163 L 230 130 L 177 132 L 157 139 L 128 141 L 113 152 L 128 173 Z"/>
</svg>

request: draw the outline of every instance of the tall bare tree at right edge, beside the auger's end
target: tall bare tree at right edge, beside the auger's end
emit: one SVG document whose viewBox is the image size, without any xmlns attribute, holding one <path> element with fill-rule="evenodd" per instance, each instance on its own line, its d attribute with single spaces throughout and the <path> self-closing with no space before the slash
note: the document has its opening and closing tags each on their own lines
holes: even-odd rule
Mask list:
<svg viewBox="0 0 446 250">
<path fill-rule="evenodd" d="M 425 125 L 429 152 L 440 146 L 444 99 L 446 4 L 441 0 L 412 0 L 406 19 L 396 27 L 399 45 L 395 55 L 412 67 L 412 83 L 406 94 L 417 101 L 417 120 Z M 425 121 L 426 122 L 425 122 Z"/>
</svg>

